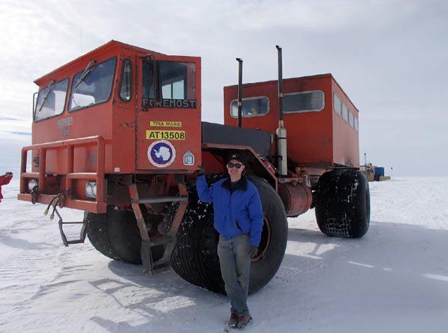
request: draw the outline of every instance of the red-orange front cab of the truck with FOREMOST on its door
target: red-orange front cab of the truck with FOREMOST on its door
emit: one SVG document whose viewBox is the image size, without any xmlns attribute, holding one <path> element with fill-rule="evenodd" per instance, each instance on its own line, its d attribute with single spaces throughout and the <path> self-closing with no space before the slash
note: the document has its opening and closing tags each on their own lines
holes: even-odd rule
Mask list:
<svg viewBox="0 0 448 333">
<path fill-rule="evenodd" d="M 196 170 L 200 70 L 199 57 L 112 40 L 37 79 L 32 146 L 22 151 L 19 198 L 49 203 L 70 191 L 66 207 L 99 213 L 105 212 L 105 201 L 121 200 L 108 194 L 105 178 Z M 92 187 L 95 193 L 86 193 Z"/>
</svg>

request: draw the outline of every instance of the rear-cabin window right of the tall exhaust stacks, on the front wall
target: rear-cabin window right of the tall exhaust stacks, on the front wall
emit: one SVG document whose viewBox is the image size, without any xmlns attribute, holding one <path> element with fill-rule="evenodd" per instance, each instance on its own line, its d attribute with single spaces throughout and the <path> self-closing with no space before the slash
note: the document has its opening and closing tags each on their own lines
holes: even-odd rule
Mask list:
<svg viewBox="0 0 448 333">
<path fill-rule="evenodd" d="M 318 112 L 325 107 L 323 91 L 305 91 L 300 93 L 285 94 L 283 96 L 283 112 Z"/>
</svg>

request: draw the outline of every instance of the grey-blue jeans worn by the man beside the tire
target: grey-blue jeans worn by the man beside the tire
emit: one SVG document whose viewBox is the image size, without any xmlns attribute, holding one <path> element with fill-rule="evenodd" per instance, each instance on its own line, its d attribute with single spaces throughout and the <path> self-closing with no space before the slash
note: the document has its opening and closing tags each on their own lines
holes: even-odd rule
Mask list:
<svg viewBox="0 0 448 333">
<path fill-rule="evenodd" d="M 247 293 L 251 270 L 250 248 L 248 235 L 239 235 L 230 239 L 219 237 L 218 256 L 225 283 L 225 293 L 232 304 L 230 311 L 237 313 L 238 316 L 249 313 Z"/>
</svg>

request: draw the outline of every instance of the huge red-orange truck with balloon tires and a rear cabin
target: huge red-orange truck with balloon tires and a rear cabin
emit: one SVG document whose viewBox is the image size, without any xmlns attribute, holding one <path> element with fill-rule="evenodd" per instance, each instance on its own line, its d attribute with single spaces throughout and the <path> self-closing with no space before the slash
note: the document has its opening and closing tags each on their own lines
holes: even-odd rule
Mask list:
<svg viewBox="0 0 448 333">
<path fill-rule="evenodd" d="M 110 41 L 37 79 L 32 145 L 22 149 L 19 200 L 57 215 L 64 245 L 90 239 L 102 254 L 172 267 L 224 293 L 213 205 L 195 177 L 225 177 L 225 159 L 246 161 L 265 221 L 250 293 L 276 274 L 287 217 L 314 208 L 328 236 L 363 237 L 370 192 L 359 171 L 358 110 L 331 74 L 224 88 L 224 122 L 201 121 L 201 59 Z M 61 208 L 84 211 L 67 222 Z M 59 209 L 59 210 L 58 210 Z M 80 235 L 66 236 L 67 224 Z"/>
</svg>

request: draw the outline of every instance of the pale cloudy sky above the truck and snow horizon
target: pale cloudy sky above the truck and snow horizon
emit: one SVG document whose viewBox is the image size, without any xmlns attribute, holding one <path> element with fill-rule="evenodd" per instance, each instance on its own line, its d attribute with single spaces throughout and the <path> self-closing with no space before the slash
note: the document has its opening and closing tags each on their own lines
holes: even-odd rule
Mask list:
<svg viewBox="0 0 448 333">
<path fill-rule="evenodd" d="M 0 173 L 31 144 L 36 78 L 119 40 L 202 57 L 202 120 L 223 123 L 223 87 L 332 73 L 360 110 L 360 163 L 448 175 L 444 0 L 0 0 Z"/>
</svg>

